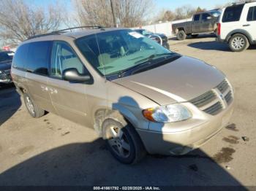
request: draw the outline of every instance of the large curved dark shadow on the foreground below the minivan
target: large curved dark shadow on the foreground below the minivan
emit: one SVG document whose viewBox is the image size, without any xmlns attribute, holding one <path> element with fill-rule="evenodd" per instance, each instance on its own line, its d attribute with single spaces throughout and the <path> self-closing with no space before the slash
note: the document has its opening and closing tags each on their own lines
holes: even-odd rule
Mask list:
<svg viewBox="0 0 256 191">
<path fill-rule="evenodd" d="M 148 155 L 118 163 L 105 142 L 50 149 L 0 174 L 1 185 L 233 185 L 240 183 L 199 149 L 183 157 Z"/>
</svg>

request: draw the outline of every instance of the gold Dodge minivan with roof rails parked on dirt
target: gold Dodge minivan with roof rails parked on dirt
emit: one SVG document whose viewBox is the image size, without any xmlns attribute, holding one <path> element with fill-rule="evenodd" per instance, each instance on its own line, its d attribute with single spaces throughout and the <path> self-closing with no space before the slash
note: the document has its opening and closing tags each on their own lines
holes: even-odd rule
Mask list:
<svg viewBox="0 0 256 191">
<path fill-rule="evenodd" d="M 12 79 L 32 117 L 53 112 L 99 133 L 121 163 L 184 155 L 233 112 L 221 71 L 127 28 L 34 36 L 18 47 Z"/>
</svg>

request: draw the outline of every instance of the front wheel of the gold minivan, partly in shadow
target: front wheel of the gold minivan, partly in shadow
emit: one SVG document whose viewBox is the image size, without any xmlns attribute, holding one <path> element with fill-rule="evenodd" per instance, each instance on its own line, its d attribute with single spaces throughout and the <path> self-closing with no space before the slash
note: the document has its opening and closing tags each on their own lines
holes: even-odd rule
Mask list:
<svg viewBox="0 0 256 191">
<path fill-rule="evenodd" d="M 122 125 L 107 119 L 102 124 L 102 136 L 110 153 L 121 163 L 135 164 L 146 155 L 140 136 L 129 123 Z"/>
</svg>

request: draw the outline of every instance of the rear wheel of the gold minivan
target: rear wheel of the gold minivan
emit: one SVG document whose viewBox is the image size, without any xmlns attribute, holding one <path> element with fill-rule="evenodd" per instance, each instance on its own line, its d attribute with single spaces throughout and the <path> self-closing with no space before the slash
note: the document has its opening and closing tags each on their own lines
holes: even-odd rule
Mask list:
<svg viewBox="0 0 256 191">
<path fill-rule="evenodd" d="M 31 117 L 38 118 L 42 117 L 45 114 L 45 110 L 39 108 L 39 106 L 37 106 L 37 104 L 35 104 L 34 101 L 32 101 L 32 99 L 27 93 L 23 94 L 23 98 L 24 103 L 26 105 L 26 109 L 28 109 L 28 112 L 31 115 Z"/>
</svg>

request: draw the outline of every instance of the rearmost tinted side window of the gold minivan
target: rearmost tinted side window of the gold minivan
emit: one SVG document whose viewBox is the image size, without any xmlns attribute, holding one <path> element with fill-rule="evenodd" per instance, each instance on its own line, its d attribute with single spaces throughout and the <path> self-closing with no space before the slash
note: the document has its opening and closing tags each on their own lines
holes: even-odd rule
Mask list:
<svg viewBox="0 0 256 191">
<path fill-rule="evenodd" d="M 12 66 L 15 69 L 24 69 L 24 65 L 27 62 L 27 55 L 29 51 L 29 44 L 23 44 L 18 47 L 18 50 L 15 52 L 14 59 L 12 61 Z"/>
</svg>

